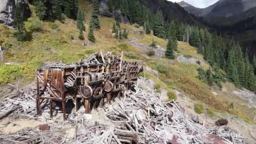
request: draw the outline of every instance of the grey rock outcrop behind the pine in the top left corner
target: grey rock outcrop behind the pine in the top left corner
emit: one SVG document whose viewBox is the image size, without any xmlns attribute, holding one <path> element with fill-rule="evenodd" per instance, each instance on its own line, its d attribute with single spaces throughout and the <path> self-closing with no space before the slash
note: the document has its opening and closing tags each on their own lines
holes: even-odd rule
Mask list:
<svg viewBox="0 0 256 144">
<path fill-rule="evenodd" d="M 27 0 L 1 0 L 0 3 L 0 23 L 6 25 L 13 25 L 14 13 L 16 4 L 20 3 L 21 16 L 27 19 L 31 11 Z"/>
</svg>

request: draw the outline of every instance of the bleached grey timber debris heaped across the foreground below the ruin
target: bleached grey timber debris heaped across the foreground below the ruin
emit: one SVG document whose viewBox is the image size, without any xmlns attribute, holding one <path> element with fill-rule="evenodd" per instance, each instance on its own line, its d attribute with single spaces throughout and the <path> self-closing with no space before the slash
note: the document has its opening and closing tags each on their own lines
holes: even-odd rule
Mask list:
<svg viewBox="0 0 256 144">
<path fill-rule="evenodd" d="M 16 96 L 11 99 L 15 105 Z M 31 99 L 31 95 L 27 96 Z M 32 95 L 32 99 L 35 94 Z M 35 114 L 35 108 L 15 107 L 22 113 Z M 29 100 L 30 101 L 30 100 Z M 28 101 L 28 103 L 29 103 Z M 163 103 L 154 92 L 137 89 L 126 91 L 123 99 L 106 109 L 109 120 L 84 122 L 84 112 L 78 110 L 76 117 L 66 122 L 53 123 L 50 130 L 27 129 L 18 133 L 1 135 L 2 144 L 242 144 L 244 138 L 226 127 L 216 129 L 200 125 L 189 118 L 175 101 Z M 24 108 L 25 109 L 24 109 Z M 3 109 L 3 105 L 0 106 Z M 6 107 L 4 107 L 6 109 Z M 49 108 L 48 108 L 49 109 Z M 47 110 L 47 109 L 46 109 Z M 29 114 L 28 113 L 28 114 Z M 49 115 L 49 114 L 48 114 Z M 75 124 L 74 136 L 67 137 L 67 123 Z"/>
</svg>

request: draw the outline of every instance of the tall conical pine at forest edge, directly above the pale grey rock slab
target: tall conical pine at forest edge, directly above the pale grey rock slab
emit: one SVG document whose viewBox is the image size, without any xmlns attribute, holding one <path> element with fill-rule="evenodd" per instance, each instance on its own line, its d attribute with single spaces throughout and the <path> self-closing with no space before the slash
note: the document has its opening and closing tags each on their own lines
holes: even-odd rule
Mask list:
<svg viewBox="0 0 256 144">
<path fill-rule="evenodd" d="M 154 35 L 161 38 L 165 37 L 163 14 L 160 9 L 157 10 Z"/>
</svg>

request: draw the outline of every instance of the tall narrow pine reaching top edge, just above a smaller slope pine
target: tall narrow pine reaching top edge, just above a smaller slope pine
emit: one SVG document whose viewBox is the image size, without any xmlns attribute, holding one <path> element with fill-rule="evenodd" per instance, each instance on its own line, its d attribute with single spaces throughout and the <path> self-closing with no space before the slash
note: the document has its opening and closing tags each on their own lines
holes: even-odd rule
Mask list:
<svg viewBox="0 0 256 144">
<path fill-rule="evenodd" d="M 94 30 L 101 29 L 101 26 L 99 23 L 99 0 L 93 0 L 90 25 Z"/>
</svg>

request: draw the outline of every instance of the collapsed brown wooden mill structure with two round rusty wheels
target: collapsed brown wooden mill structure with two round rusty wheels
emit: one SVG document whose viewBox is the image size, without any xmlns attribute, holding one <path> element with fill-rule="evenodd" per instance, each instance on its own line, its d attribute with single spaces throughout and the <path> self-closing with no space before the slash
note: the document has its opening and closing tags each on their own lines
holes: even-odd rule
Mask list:
<svg viewBox="0 0 256 144">
<path fill-rule="evenodd" d="M 85 105 L 85 113 L 92 108 L 103 107 L 115 97 L 119 98 L 125 90 L 130 90 L 143 70 L 139 62 L 123 61 L 114 53 L 95 53 L 77 64 L 54 64 L 36 70 L 37 115 L 42 115 L 40 104 L 46 99 L 50 104 L 50 115 L 57 101 L 61 102 L 63 118 L 66 120 L 66 102 L 72 100 L 77 110 L 80 100 Z"/>
</svg>

